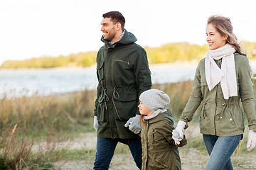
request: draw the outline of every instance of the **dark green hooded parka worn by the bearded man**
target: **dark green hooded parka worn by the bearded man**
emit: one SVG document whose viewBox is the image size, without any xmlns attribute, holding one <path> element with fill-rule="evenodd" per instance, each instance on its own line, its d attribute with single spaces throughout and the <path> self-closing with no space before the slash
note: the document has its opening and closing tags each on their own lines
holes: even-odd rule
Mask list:
<svg viewBox="0 0 256 170">
<path fill-rule="evenodd" d="M 139 95 L 151 89 L 151 72 L 146 51 L 127 30 L 121 40 L 97 52 L 97 98 L 93 115 L 99 127 L 97 137 L 128 139 L 139 137 L 125 128 L 129 118 L 139 114 Z"/>
</svg>

